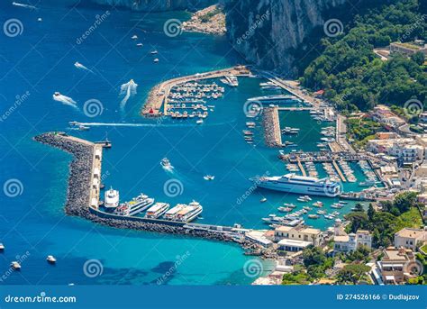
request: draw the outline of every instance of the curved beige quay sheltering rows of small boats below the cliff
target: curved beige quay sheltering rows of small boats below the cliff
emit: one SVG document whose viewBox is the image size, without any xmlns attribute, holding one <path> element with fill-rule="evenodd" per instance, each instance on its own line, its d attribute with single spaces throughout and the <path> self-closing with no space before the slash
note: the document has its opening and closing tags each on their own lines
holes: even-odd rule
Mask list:
<svg viewBox="0 0 427 309">
<path fill-rule="evenodd" d="M 141 114 L 144 116 L 153 116 L 158 117 L 162 115 L 168 115 L 168 95 L 170 90 L 174 86 L 178 86 L 180 84 L 184 84 L 187 82 L 193 82 L 197 80 L 203 79 L 211 79 L 211 78 L 220 78 L 220 77 L 230 77 L 230 76 L 249 76 L 250 70 L 244 66 L 236 66 L 232 68 L 223 68 L 214 71 L 197 73 L 194 75 L 189 75 L 185 77 L 176 77 L 172 79 L 168 79 L 160 83 L 157 86 L 154 86 L 150 94 L 143 105 Z M 161 108 L 163 106 L 163 112 L 161 112 Z"/>
</svg>

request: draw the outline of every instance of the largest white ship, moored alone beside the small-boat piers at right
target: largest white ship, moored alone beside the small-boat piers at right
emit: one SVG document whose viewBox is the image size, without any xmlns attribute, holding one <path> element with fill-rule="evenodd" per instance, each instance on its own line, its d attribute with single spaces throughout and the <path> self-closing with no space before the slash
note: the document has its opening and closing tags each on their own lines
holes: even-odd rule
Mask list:
<svg viewBox="0 0 427 309">
<path fill-rule="evenodd" d="M 256 186 L 275 191 L 331 197 L 341 195 L 341 185 L 338 182 L 331 181 L 329 178 L 318 179 L 316 177 L 286 174 L 284 176 L 260 177 L 251 180 L 254 181 Z"/>
</svg>

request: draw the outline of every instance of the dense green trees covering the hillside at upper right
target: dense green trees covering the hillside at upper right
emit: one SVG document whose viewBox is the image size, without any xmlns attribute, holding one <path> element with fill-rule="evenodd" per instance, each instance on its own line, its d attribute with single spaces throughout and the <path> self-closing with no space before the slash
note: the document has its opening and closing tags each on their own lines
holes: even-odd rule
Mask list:
<svg viewBox="0 0 427 309">
<path fill-rule="evenodd" d="M 382 61 L 373 52 L 393 41 L 427 38 L 422 1 L 370 1 L 366 6 L 345 21 L 340 36 L 322 40 L 321 50 L 316 50 L 321 55 L 304 69 L 303 86 L 324 89 L 326 98 L 349 112 L 366 111 L 377 104 L 403 106 L 411 98 L 426 105 L 423 55 L 396 55 Z"/>
</svg>

